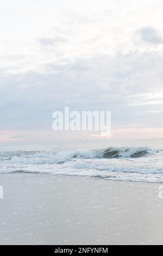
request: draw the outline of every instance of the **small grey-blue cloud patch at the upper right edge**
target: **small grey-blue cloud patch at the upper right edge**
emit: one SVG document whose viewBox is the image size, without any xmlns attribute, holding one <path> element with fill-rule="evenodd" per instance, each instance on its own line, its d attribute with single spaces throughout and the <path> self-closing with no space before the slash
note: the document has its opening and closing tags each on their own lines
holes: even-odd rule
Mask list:
<svg viewBox="0 0 163 256">
<path fill-rule="evenodd" d="M 150 44 L 163 44 L 163 38 L 158 31 L 153 27 L 143 27 L 140 29 L 141 39 Z"/>
</svg>

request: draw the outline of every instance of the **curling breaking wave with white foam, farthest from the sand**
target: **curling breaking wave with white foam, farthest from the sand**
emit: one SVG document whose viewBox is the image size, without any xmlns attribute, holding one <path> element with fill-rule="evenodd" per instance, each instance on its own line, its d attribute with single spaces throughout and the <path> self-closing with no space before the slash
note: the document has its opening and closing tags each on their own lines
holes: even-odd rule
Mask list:
<svg viewBox="0 0 163 256">
<path fill-rule="evenodd" d="M 145 147 L 110 147 L 106 149 L 79 149 L 74 151 L 6 151 L 0 152 L 0 160 L 17 160 L 23 161 L 26 159 L 30 160 L 42 160 L 47 159 L 48 162 L 56 162 L 56 160 L 61 159 L 72 159 L 72 158 L 136 158 L 143 157 L 149 154 L 159 153 L 158 150 L 145 148 Z M 37 162 L 37 161 L 36 161 Z M 46 162 L 46 161 L 45 161 Z"/>
</svg>

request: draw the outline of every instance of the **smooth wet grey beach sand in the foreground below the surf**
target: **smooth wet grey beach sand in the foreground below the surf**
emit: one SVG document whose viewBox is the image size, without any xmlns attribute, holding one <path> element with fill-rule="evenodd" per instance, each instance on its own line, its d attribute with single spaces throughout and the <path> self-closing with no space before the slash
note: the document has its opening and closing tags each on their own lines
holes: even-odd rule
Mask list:
<svg viewBox="0 0 163 256">
<path fill-rule="evenodd" d="M 159 184 L 1 174 L 1 245 L 163 244 Z"/>
</svg>

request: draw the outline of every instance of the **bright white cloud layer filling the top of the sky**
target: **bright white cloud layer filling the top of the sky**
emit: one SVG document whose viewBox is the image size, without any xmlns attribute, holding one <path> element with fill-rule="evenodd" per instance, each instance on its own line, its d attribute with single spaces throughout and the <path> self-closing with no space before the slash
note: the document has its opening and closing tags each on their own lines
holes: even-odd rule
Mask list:
<svg viewBox="0 0 163 256">
<path fill-rule="evenodd" d="M 41 3 L 36 1 L 35 4 L 24 1 L 23 19 L 16 4 L 12 6 L 16 13 L 12 11 L 10 19 L 2 11 L 1 68 L 8 68 L 9 72 L 26 72 L 31 69 L 38 71 L 41 63 L 55 62 L 56 65 L 65 59 L 71 61 L 74 58 L 97 57 L 117 52 L 152 52 L 155 48 L 159 52 L 163 50 L 161 34 L 158 33 L 163 28 L 160 22 L 162 3 L 158 6 L 154 0 L 150 0 L 153 4 L 144 0 L 133 5 L 129 0 L 122 1 L 125 2 L 123 4 L 118 0 L 111 0 L 105 1 L 105 8 L 103 4 L 94 4 L 93 8 L 97 8 L 95 11 L 91 2 L 90 10 L 87 4 L 85 8 L 86 0 L 77 6 L 71 3 L 71 7 L 65 0 L 60 2 L 66 2 L 66 6 L 58 1 L 49 1 L 51 4 L 44 0 Z M 61 6 L 65 7 L 64 10 Z M 8 9 L 6 2 L 5 8 Z M 146 15 L 143 9 L 146 9 Z M 153 27 L 145 27 L 146 24 L 152 24 Z M 11 33 L 6 33 L 9 30 Z M 83 69 L 82 65 L 79 69 Z"/>
</svg>

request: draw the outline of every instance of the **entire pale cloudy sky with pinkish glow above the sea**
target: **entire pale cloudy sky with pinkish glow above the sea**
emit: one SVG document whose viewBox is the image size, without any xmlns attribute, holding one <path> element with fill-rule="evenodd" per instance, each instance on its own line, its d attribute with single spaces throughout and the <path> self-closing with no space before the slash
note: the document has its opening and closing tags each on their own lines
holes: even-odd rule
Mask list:
<svg viewBox="0 0 163 256">
<path fill-rule="evenodd" d="M 163 137 L 161 0 L 1 0 L 0 143 L 101 139 L 52 113 L 111 111 L 111 138 Z"/>
</svg>

